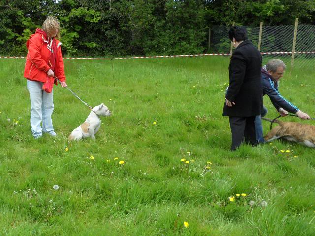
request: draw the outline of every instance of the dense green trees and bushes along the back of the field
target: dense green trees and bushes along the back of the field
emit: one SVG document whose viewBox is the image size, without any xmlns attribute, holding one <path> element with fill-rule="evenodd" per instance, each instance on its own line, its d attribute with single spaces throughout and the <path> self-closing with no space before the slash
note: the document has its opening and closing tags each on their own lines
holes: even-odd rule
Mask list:
<svg viewBox="0 0 315 236">
<path fill-rule="evenodd" d="M 315 24 L 314 0 L 0 0 L 0 55 L 26 55 L 48 15 L 61 22 L 63 55 L 202 53 L 210 25 Z"/>
</svg>

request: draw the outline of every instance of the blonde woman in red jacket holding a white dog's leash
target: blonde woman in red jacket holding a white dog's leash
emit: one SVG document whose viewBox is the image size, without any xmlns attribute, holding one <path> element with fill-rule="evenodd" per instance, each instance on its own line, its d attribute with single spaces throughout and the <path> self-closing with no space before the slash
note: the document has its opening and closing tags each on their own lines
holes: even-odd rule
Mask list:
<svg viewBox="0 0 315 236">
<path fill-rule="evenodd" d="M 55 38 L 59 34 L 59 21 L 49 16 L 42 29 L 27 41 L 28 55 L 25 63 L 24 77 L 31 98 L 31 126 L 35 139 L 43 132 L 56 136 L 51 115 L 54 110 L 52 87 L 56 76 L 61 86 L 66 87 L 61 43 Z M 40 126 L 42 122 L 42 127 Z"/>
</svg>

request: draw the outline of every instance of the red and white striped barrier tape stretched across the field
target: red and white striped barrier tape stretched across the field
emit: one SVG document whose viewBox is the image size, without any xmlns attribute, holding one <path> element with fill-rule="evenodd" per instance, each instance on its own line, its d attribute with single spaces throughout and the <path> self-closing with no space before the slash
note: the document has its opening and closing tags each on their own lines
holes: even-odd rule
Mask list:
<svg viewBox="0 0 315 236">
<path fill-rule="evenodd" d="M 315 52 L 294 52 L 294 54 L 315 54 Z M 270 53 L 261 53 L 262 55 L 272 55 L 272 54 L 293 54 L 293 52 L 270 52 Z M 126 58 L 67 58 L 63 59 L 85 59 L 85 60 L 113 60 L 113 59 L 142 59 L 142 58 L 178 58 L 178 57 L 199 57 L 199 56 L 229 56 L 230 53 L 211 53 L 211 54 L 189 54 L 189 55 L 169 55 L 169 56 L 143 56 L 143 57 L 126 57 Z M 0 58 L 21 58 L 25 59 L 26 57 L 18 56 L 0 56 Z"/>
</svg>

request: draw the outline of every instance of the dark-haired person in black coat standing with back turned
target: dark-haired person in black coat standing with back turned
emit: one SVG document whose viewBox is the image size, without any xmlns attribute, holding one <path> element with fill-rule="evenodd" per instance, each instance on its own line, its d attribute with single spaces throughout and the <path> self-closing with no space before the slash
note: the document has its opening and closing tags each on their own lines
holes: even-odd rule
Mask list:
<svg viewBox="0 0 315 236">
<path fill-rule="evenodd" d="M 256 145 L 255 117 L 263 109 L 261 53 L 247 40 L 244 27 L 233 26 L 228 32 L 236 50 L 229 65 L 230 83 L 225 95 L 223 116 L 228 116 L 232 133 L 231 150 L 242 142 Z"/>
</svg>

